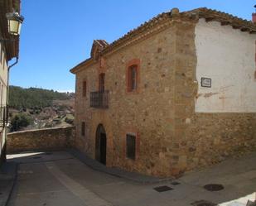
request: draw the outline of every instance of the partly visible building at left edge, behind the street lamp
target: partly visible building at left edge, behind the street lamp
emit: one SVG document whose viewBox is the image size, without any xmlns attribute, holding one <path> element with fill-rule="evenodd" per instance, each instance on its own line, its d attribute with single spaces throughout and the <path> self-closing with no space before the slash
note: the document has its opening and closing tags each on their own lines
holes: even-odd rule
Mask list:
<svg viewBox="0 0 256 206">
<path fill-rule="evenodd" d="M 7 12 L 20 12 L 20 0 L 0 0 L 0 165 L 5 160 L 7 137 L 7 93 L 9 69 L 8 61 L 19 54 L 19 38 L 11 37 L 7 29 Z M 16 38 L 15 41 L 1 41 Z"/>
</svg>

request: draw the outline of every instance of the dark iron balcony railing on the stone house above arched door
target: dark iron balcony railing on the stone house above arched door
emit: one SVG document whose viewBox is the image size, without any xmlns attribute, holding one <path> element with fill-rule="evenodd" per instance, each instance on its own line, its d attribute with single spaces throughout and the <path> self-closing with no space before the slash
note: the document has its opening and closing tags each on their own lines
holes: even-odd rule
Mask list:
<svg viewBox="0 0 256 206">
<path fill-rule="evenodd" d="M 109 108 L 109 91 L 91 92 L 90 107 L 91 108 Z"/>
</svg>

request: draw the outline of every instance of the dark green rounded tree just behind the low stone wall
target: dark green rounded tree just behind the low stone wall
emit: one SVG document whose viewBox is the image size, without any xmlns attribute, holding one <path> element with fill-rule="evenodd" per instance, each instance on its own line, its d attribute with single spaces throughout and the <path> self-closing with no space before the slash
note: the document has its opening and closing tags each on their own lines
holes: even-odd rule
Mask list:
<svg viewBox="0 0 256 206">
<path fill-rule="evenodd" d="M 31 117 L 25 113 L 18 113 L 11 119 L 10 132 L 17 132 L 22 129 L 22 127 L 27 127 L 32 122 Z"/>
</svg>

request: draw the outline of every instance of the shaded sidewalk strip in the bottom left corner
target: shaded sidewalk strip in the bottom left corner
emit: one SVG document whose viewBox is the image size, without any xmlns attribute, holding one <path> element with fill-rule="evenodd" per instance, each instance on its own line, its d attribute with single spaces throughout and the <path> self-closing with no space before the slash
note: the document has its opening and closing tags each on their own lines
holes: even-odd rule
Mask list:
<svg viewBox="0 0 256 206">
<path fill-rule="evenodd" d="M 7 205 L 17 178 L 17 163 L 7 162 L 0 168 L 0 206 Z"/>
</svg>

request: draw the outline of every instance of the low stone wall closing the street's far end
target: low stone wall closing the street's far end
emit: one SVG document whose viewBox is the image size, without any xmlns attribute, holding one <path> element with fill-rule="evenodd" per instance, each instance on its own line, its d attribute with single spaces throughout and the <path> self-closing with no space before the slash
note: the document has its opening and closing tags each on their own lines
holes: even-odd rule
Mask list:
<svg viewBox="0 0 256 206">
<path fill-rule="evenodd" d="M 75 127 L 47 128 L 7 134 L 7 153 L 63 150 L 73 145 Z"/>
</svg>

